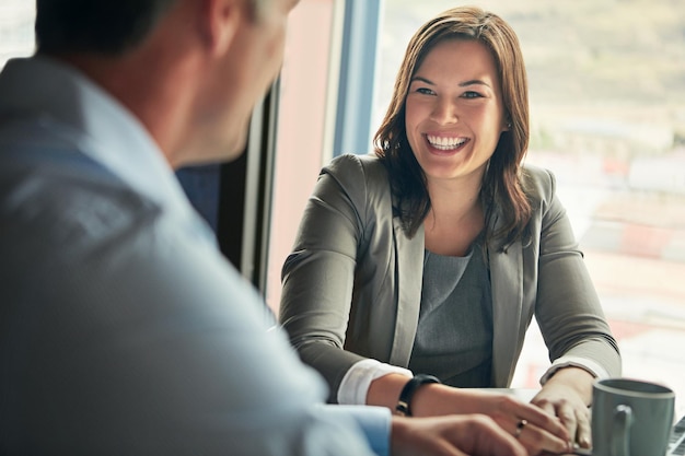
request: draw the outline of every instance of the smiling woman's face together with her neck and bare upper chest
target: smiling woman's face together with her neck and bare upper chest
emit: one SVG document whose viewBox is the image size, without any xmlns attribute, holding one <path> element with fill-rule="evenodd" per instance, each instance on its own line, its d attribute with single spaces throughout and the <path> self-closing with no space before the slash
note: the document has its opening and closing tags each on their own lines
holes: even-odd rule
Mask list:
<svg viewBox="0 0 685 456">
<path fill-rule="evenodd" d="M 426 248 L 464 256 L 483 231 L 478 192 L 500 136 L 508 130 L 492 54 L 477 40 L 437 44 L 411 78 L 405 128 L 426 177 Z M 455 194 L 468 196 L 462 202 Z M 451 225 L 461 220 L 455 233 Z"/>
</svg>

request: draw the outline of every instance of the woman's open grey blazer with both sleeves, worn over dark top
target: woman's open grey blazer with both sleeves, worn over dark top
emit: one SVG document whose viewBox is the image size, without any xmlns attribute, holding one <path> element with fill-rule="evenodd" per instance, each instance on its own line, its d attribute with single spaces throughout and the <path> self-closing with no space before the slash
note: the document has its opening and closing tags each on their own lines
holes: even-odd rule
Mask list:
<svg viewBox="0 0 685 456">
<path fill-rule="evenodd" d="M 523 185 L 533 209 L 530 241 L 507 253 L 488 248 L 491 386 L 510 385 L 533 315 L 550 360 L 571 355 L 574 364 L 590 360 L 618 375 L 618 348 L 555 196 L 554 176 L 526 166 Z M 328 382 L 332 401 L 345 373 L 364 358 L 408 365 L 423 248 L 422 227 L 409 238 L 393 217 L 388 177 L 378 157 L 341 155 L 322 169 L 283 265 L 280 319 L 302 360 Z"/>
</svg>

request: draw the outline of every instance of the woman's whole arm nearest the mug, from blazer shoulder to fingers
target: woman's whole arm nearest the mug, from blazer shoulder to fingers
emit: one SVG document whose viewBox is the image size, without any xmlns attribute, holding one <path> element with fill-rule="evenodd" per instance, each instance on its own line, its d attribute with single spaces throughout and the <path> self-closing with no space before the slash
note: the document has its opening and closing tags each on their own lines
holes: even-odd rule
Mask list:
<svg viewBox="0 0 685 456">
<path fill-rule="evenodd" d="M 538 172 L 541 202 L 535 318 L 553 361 L 533 404 L 558 416 L 582 446 L 590 444 L 588 406 L 595 377 L 620 374 L 616 340 L 583 262 L 555 178 Z"/>
</svg>

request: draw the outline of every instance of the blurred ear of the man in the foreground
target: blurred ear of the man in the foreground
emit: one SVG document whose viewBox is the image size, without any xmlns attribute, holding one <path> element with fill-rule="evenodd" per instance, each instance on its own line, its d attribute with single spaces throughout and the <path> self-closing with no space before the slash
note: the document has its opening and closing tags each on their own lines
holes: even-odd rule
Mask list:
<svg viewBox="0 0 685 456">
<path fill-rule="evenodd" d="M 248 15 L 245 10 L 245 0 L 200 0 L 202 3 L 201 28 L 202 36 L 212 55 L 223 55 Z"/>
</svg>

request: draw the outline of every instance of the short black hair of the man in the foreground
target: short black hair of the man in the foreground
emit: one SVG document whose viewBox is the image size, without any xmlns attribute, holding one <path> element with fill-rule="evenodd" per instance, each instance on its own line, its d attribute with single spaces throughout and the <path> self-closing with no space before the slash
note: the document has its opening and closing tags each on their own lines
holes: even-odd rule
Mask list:
<svg viewBox="0 0 685 456">
<path fill-rule="evenodd" d="M 39 52 L 120 55 L 141 43 L 177 0 L 36 0 Z"/>
</svg>

